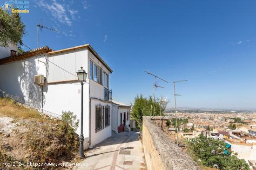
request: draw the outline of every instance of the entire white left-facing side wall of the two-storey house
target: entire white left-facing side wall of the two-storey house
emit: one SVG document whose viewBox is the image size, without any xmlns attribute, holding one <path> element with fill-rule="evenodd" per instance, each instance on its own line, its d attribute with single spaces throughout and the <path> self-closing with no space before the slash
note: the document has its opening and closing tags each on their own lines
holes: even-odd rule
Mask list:
<svg viewBox="0 0 256 170">
<path fill-rule="evenodd" d="M 74 51 L 73 51 L 74 52 Z M 62 56 L 63 55 L 63 56 Z M 72 74 L 76 75 L 76 67 L 83 66 L 88 70 L 88 52 L 87 50 L 79 50 L 74 54 L 61 54 L 55 55 L 53 58 L 49 57 L 52 61 L 58 61 L 55 64 L 65 63 L 68 57 L 74 57 L 76 63 L 71 62 L 64 67 Z M 69 58 L 70 59 L 70 58 Z M 46 59 L 40 57 L 40 61 L 46 62 Z M 57 71 L 56 71 L 57 70 Z M 67 76 L 64 70 L 58 70 L 53 64 L 49 64 L 48 75 L 51 80 L 65 81 L 74 80 L 75 78 Z M 88 71 L 87 71 L 88 72 Z M 30 57 L 25 60 L 15 61 L 0 65 L 0 89 L 6 91 L 8 94 L 20 96 L 24 104 L 41 109 L 42 107 L 42 91 L 40 86 L 34 84 L 34 75 L 42 74 L 47 75 L 46 65 L 37 62 L 37 56 Z M 61 78 L 58 78 L 58 77 Z M 55 79 L 54 79 L 55 77 Z M 62 111 L 71 111 L 77 115 L 77 119 L 81 119 L 81 84 L 71 83 L 58 83 L 46 84 L 43 87 L 43 109 L 61 115 Z M 80 92 L 80 93 L 79 93 Z M 89 145 L 89 83 L 84 84 L 84 116 L 83 116 L 83 134 L 85 137 L 85 148 Z M 81 121 L 80 121 L 81 122 Z M 77 133 L 80 134 L 80 123 Z"/>
</svg>

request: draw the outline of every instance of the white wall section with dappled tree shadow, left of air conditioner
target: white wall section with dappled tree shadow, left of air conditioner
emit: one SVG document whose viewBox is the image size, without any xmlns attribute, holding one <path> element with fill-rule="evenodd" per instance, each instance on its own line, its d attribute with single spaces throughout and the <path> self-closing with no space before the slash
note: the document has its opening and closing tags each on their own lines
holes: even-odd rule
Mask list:
<svg viewBox="0 0 256 170">
<path fill-rule="evenodd" d="M 44 58 L 40 58 L 44 61 Z M 0 89 L 7 94 L 19 96 L 24 104 L 41 108 L 41 89 L 34 84 L 34 76 L 46 75 L 44 63 L 37 62 L 37 57 L 0 65 Z"/>
</svg>

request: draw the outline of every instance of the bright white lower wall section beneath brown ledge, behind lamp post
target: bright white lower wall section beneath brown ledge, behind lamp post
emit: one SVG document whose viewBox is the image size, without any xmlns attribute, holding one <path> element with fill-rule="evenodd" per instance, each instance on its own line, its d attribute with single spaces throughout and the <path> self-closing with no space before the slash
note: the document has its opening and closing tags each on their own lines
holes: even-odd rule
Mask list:
<svg viewBox="0 0 256 170">
<path fill-rule="evenodd" d="M 81 84 L 50 84 L 44 87 L 43 109 L 61 115 L 62 111 L 71 111 L 79 120 L 76 133 L 81 130 Z M 83 135 L 84 147 L 89 147 L 89 84 L 84 84 L 83 93 Z"/>
</svg>

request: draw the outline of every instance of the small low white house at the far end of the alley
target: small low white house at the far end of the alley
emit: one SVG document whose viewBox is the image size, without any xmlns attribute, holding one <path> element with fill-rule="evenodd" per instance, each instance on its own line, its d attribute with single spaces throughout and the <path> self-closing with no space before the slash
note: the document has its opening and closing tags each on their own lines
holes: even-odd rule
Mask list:
<svg viewBox="0 0 256 170">
<path fill-rule="evenodd" d="M 112 130 L 122 132 L 130 131 L 130 106 L 118 101 L 113 101 L 112 110 Z"/>
</svg>

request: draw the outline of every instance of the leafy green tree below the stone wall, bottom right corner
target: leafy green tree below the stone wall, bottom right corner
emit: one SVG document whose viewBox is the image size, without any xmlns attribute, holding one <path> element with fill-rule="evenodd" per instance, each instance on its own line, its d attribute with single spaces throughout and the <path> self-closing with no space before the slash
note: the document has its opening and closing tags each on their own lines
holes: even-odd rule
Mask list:
<svg viewBox="0 0 256 170">
<path fill-rule="evenodd" d="M 238 159 L 234 155 L 226 155 L 232 151 L 225 147 L 225 143 L 221 140 L 207 138 L 202 134 L 198 138 L 189 141 L 189 150 L 193 153 L 193 158 L 209 167 L 214 164 L 218 165 L 220 170 L 249 170 L 249 165 L 244 159 Z"/>
</svg>

